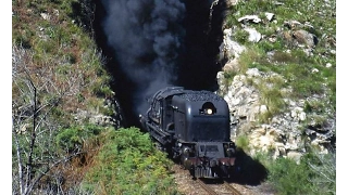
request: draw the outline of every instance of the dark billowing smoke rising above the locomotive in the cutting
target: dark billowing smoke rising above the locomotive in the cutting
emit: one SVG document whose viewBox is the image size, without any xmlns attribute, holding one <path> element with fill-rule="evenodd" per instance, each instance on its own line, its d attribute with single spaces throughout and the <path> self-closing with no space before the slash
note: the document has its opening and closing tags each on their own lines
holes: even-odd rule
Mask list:
<svg viewBox="0 0 348 195">
<path fill-rule="evenodd" d="M 102 3 L 108 44 L 115 51 L 121 69 L 136 84 L 135 112 L 144 113 L 145 98 L 177 79 L 185 4 L 179 0 L 102 0 Z"/>
</svg>

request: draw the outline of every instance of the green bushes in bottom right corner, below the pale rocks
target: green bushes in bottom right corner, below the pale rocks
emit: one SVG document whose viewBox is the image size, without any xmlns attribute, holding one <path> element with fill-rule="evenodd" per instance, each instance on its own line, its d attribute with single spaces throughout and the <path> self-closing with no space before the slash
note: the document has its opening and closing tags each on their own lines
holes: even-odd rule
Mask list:
<svg viewBox="0 0 348 195">
<path fill-rule="evenodd" d="M 265 158 L 262 158 L 263 161 Z M 299 164 L 289 158 L 268 160 L 269 181 L 279 195 L 336 194 L 336 154 L 306 153 Z"/>
</svg>

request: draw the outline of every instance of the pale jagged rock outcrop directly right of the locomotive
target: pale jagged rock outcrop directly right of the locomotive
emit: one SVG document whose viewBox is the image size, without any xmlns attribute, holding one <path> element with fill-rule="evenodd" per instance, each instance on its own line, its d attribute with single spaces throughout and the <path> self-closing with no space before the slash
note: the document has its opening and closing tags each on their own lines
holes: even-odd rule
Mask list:
<svg viewBox="0 0 348 195">
<path fill-rule="evenodd" d="M 275 76 L 275 75 L 274 75 Z M 325 126 L 312 121 L 303 127 L 307 114 L 303 112 L 304 100 L 285 100 L 288 107 L 285 113 L 269 119 L 268 123 L 259 123 L 258 116 L 268 109 L 268 105 L 260 103 L 260 94 L 254 87 L 249 86 L 247 79 L 254 80 L 265 77 L 258 69 L 248 69 L 246 75 L 234 77 L 231 86 L 225 88 L 220 82 L 221 91 L 225 91 L 224 99 L 227 101 L 232 118 L 232 139 L 245 134 L 249 139 L 250 153 L 272 151 L 274 158 L 278 156 L 293 156 L 299 159 L 306 153 L 304 142 L 316 145 L 322 152 L 327 152 L 335 146 L 336 120 L 326 118 Z M 219 80 L 223 80 L 223 73 L 219 73 Z M 319 96 L 311 99 L 320 99 Z"/>
</svg>

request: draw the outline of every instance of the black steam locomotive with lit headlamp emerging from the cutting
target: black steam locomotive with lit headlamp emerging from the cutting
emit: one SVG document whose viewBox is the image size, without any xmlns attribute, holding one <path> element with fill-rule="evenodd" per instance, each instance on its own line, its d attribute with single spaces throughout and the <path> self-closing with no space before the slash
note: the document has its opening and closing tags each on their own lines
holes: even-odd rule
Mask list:
<svg viewBox="0 0 348 195">
<path fill-rule="evenodd" d="M 232 177 L 236 146 L 223 98 L 211 91 L 166 87 L 148 101 L 150 107 L 140 115 L 140 123 L 161 150 L 194 178 Z"/>
</svg>

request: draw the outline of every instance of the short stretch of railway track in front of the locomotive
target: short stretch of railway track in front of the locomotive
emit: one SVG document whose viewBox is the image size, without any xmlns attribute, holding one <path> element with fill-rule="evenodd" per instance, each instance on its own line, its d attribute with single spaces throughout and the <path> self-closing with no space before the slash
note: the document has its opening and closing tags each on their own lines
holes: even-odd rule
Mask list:
<svg viewBox="0 0 348 195">
<path fill-rule="evenodd" d="M 229 185 L 226 181 L 201 180 L 197 179 L 196 182 L 210 195 L 241 195 L 239 191 Z M 220 191 L 220 192 L 217 192 Z"/>
</svg>

